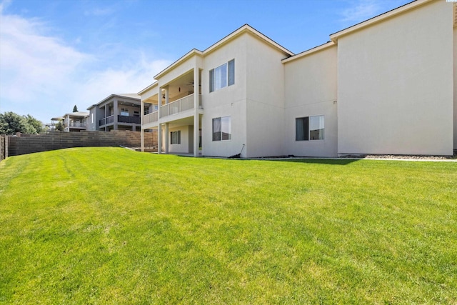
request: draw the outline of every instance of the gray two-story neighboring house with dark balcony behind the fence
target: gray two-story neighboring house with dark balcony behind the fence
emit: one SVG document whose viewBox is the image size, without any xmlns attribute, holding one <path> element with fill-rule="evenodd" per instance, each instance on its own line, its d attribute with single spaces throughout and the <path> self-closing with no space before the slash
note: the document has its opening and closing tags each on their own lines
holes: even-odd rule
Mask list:
<svg viewBox="0 0 457 305">
<path fill-rule="evenodd" d="M 138 94 L 111 94 L 87 109 L 89 110 L 87 129 L 140 131 L 140 105 Z"/>
</svg>

